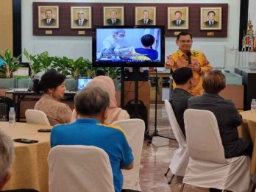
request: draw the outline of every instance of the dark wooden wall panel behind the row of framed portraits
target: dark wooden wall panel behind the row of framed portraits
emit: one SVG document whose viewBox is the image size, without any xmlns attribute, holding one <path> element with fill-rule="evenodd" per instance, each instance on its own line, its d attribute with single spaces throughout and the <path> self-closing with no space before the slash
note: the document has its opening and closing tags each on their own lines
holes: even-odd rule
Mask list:
<svg viewBox="0 0 256 192">
<path fill-rule="evenodd" d="M 46 29 L 38 28 L 38 6 L 40 5 L 59 5 L 60 28 Z M 92 26 L 103 25 L 103 7 L 124 6 L 124 24 L 135 25 L 135 7 L 156 7 L 156 24 L 166 26 L 166 37 L 174 37 L 175 32 L 188 31 L 195 38 L 227 38 L 227 15 L 228 4 L 124 4 L 124 3 L 33 3 L 33 35 L 47 35 L 50 30 L 52 35 L 73 36 L 79 35 L 79 31 L 85 31 L 85 36 L 91 35 L 91 29 L 71 29 L 71 6 L 90 6 L 92 7 Z M 167 29 L 167 10 L 168 7 L 189 7 L 189 29 Z M 222 7 L 222 29 L 221 30 L 200 30 L 200 8 L 201 7 Z M 213 32 L 212 35 L 207 35 Z"/>
</svg>

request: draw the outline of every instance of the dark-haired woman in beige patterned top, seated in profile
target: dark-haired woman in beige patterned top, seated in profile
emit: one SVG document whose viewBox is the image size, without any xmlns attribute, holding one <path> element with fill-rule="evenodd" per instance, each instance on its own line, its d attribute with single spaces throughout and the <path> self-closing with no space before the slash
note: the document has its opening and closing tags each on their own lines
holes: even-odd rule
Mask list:
<svg viewBox="0 0 256 192">
<path fill-rule="evenodd" d="M 46 113 L 52 126 L 56 124 L 67 124 L 71 121 L 72 110 L 68 104 L 60 101 L 65 94 L 65 75 L 57 71 L 48 71 L 39 79 L 34 79 L 34 91 L 43 96 L 35 104 L 35 110 Z"/>
</svg>

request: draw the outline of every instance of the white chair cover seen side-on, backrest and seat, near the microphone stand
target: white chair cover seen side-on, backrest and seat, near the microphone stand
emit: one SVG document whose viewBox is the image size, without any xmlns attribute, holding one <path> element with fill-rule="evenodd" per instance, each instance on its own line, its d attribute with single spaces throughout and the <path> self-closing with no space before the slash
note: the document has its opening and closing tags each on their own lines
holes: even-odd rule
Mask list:
<svg viewBox="0 0 256 192">
<path fill-rule="evenodd" d="M 171 159 L 169 168 L 171 173 L 179 176 L 184 176 L 186 168 L 188 166 L 188 151 L 187 143 L 182 130 L 179 128 L 179 124 L 174 115 L 174 110 L 171 107 L 170 102 L 165 99 L 166 112 L 171 125 L 171 129 L 174 132 L 174 136 L 179 143 L 179 149 L 174 151 L 174 156 Z"/>
</svg>

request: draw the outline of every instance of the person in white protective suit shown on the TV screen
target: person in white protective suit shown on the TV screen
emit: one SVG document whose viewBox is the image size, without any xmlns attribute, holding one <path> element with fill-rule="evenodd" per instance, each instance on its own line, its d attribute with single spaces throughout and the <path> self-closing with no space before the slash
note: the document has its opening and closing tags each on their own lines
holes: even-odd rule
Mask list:
<svg viewBox="0 0 256 192">
<path fill-rule="evenodd" d="M 102 44 L 102 57 L 118 57 L 118 54 L 125 52 L 126 49 L 124 48 L 128 47 L 127 40 L 125 40 L 125 30 L 113 30 L 112 35 L 107 36 Z"/>
</svg>

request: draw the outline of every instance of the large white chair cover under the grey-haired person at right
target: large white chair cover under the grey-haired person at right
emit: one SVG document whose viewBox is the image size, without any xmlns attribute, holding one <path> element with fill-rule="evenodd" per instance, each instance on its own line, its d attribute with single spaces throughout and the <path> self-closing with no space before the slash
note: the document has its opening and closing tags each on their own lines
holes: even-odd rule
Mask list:
<svg viewBox="0 0 256 192">
<path fill-rule="evenodd" d="M 247 156 L 225 159 L 215 115 L 208 110 L 185 110 L 189 154 L 184 183 L 233 192 L 249 190 Z"/>
</svg>

